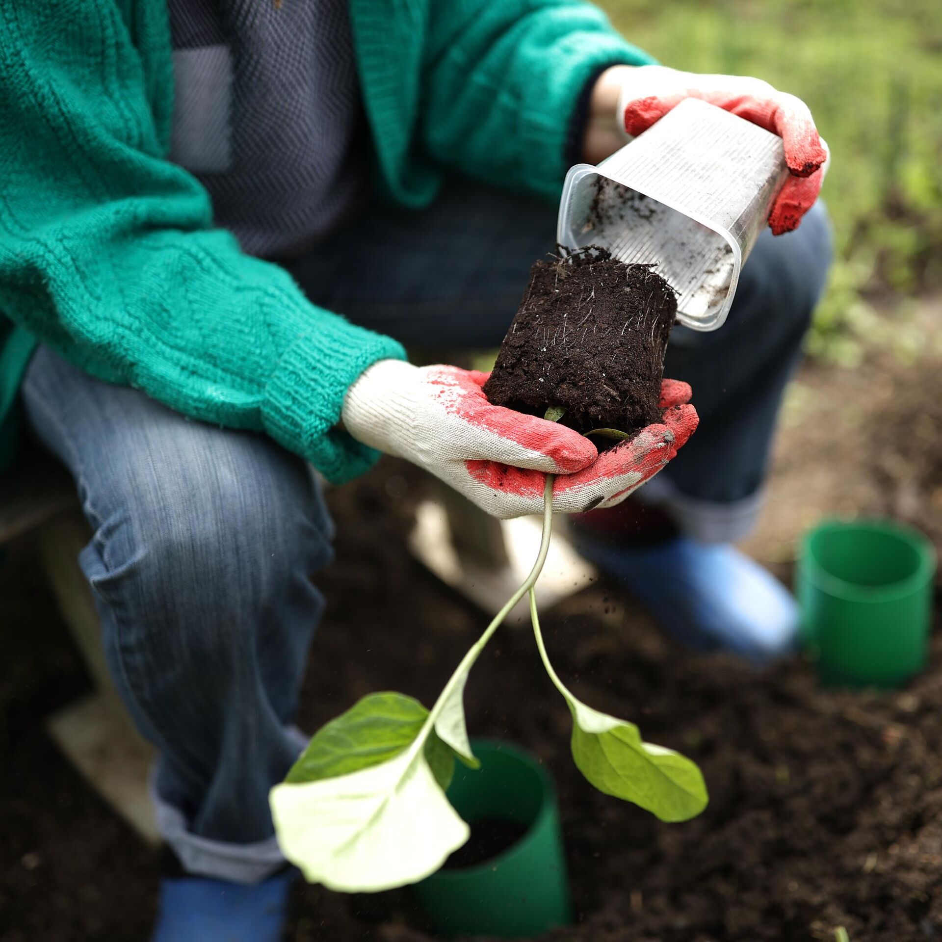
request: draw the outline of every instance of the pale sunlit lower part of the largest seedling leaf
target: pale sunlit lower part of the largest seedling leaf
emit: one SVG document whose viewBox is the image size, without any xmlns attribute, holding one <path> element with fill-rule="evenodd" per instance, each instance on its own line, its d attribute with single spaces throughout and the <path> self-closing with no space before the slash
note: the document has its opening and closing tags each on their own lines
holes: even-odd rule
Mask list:
<svg viewBox="0 0 942 942">
<path fill-rule="evenodd" d="M 415 883 L 467 840 L 420 739 L 380 765 L 271 789 L 284 856 L 311 883 L 374 892 Z"/>
</svg>

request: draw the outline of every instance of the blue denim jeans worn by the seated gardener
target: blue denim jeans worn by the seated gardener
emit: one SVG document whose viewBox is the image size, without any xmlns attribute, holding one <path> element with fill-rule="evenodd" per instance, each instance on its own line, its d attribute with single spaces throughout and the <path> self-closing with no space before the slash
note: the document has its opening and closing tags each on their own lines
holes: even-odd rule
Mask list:
<svg viewBox="0 0 942 942">
<path fill-rule="evenodd" d="M 367 209 L 291 268 L 314 300 L 406 343 L 493 346 L 554 226 L 552 206 L 458 184 L 428 210 Z M 763 236 L 729 324 L 675 332 L 668 373 L 703 423 L 664 499 L 720 520 L 755 503 L 828 246 L 821 210 Z M 79 561 L 115 683 L 159 750 L 159 827 L 191 872 L 262 879 L 282 862 L 268 788 L 300 749 L 290 723 L 322 609 L 310 577 L 331 560 L 317 483 L 268 438 L 187 421 L 49 349 L 23 398 L 94 531 Z"/>
</svg>

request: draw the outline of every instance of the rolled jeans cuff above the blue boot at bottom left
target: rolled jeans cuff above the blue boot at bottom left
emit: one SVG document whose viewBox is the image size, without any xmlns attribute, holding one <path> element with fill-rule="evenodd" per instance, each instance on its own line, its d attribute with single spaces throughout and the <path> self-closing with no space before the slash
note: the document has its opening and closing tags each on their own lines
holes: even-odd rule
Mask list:
<svg viewBox="0 0 942 942">
<path fill-rule="evenodd" d="M 298 742 L 298 752 L 308 743 L 300 729 L 285 730 Z M 257 884 L 284 867 L 285 860 L 278 839 L 272 835 L 251 844 L 231 844 L 223 840 L 200 837 L 189 830 L 186 815 L 175 805 L 164 801 L 156 788 L 160 760 L 151 771 L 150 791 L 154 802 L 157 831 L 180 861 L 180 866 L 194 876 L 211 877 L 237 884 Z M 272 783 L 274 785 L 275 783 Z"/>
</svg>

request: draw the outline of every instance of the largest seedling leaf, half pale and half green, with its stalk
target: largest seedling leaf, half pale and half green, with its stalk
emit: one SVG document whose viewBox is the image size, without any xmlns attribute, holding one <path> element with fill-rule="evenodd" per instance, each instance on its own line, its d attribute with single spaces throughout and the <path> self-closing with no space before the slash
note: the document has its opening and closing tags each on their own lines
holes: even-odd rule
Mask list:
<svg viewBox="0 0 942 942">
<path fill-rule="evenodd" d="M 401 693 L 369 694 L 320 729 L 271 789 L 278 843 L 307 880 L 349 893 L 392 889 L 429 876 L 467 840 L 445 790 L 453 749 L 477 765 L 462 695 L 486 641 L 487 632 L 431 711 Z"/>
</svg>

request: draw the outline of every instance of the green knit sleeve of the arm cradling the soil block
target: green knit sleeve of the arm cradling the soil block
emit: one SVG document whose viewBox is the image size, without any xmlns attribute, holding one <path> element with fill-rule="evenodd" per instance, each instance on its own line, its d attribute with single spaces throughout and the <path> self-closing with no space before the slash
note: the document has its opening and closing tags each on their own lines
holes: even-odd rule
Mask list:
<svg viewBox="0 0 942 942">
<path fill-rule="evenodd" d="M 336 428 L 347 388 L 404 352 L 212 228 L 165 159 L 171 94 L 162 3 L 3 0 L 0 312 L 94 376 L 348 479 L 375 453 Z"/>
</svg>

